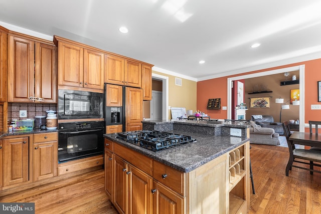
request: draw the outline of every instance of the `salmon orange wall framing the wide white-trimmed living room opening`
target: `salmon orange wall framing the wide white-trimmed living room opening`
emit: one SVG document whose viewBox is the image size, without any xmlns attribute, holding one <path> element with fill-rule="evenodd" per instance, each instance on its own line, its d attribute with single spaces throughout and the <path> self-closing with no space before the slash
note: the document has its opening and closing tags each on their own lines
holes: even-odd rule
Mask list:
<svg viewBox="0 0 321 214">
<path fill-rule="evenodd" d="M 321 121 L 321 110 L 311 110 L 311 104 L 321 104 L 317 102 L 317 81 L 321 81 L 321 59 L 199 81 L 197 83 L 197 108 L 206 112 L 211 118 L 227 118 L 227 110 L 222 110 L 222 106 L 227 106 L 227 78 L 298 65 L 305 65 L 305 88 L 304 93 L 301 92 L 300 94 L 300 96 L 305 96 L 304 122 L 308 123 L 309 120 Z M 206 109 L 208 99 L 211 98 L 221 98 L 221 110 Z"/>
</svg>

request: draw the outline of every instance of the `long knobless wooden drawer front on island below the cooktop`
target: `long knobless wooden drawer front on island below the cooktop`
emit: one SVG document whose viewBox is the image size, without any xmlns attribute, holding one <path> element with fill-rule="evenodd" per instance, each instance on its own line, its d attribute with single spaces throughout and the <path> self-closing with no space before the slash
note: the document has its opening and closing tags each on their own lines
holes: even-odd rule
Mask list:
<svg viewBox="0 0 321 214">
<path fill-rule="evenodd" d="M 113 144 L 114 153 L 119 157 L 123 158 L 124 160 L 128 161 L 132 165 L 136 166 L 140 170 L 146 172 L 147 174 L 151 175 L 152 170 L 152 161 L 151 158 L 135 152 L 129 148 L 126 148 L 118 143 Z"/>
</svg>

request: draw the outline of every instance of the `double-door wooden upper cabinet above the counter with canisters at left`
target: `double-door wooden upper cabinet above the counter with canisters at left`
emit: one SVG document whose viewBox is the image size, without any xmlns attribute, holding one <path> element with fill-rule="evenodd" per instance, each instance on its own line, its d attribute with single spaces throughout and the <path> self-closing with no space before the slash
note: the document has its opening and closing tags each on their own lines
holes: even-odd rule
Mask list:
<svg viewBox="0 0 321 214">
<path fill-rule="evenodd" d="M 9 35 L 8 101 L 57 102 L 57 49 L 29 37 Z"/>
</svg>

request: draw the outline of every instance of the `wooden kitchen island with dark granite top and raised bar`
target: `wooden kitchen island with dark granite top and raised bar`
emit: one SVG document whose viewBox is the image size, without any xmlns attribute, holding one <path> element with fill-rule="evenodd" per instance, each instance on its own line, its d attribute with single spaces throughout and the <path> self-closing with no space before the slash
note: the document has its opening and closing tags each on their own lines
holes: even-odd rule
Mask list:
<svg viewBox="0 0 321 214">
<path fill-rule="evenodd" d="M 106 193 L 120 213 L 247 213 L 248 128 L 213 121 L 143 121 L 144 130 L 196 139 L 156 152 L 105 134 Z"/>
</svg>

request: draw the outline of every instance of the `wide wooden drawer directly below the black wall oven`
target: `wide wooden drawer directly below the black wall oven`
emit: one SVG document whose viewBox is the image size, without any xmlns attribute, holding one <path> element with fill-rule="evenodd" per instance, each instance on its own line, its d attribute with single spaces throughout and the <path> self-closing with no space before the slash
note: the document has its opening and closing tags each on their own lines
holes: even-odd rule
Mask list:
<svg viewBox="0 0 321 214">
<path fill-rule="evenodd" d="M 58 167 L 58 175 L 63 175 L 91 167 L 99 166 L 104 164 L 104 157 L 99 157 L 91 160 L 77 162 L 69 165 L 63 165 Z"/>
</svg>

